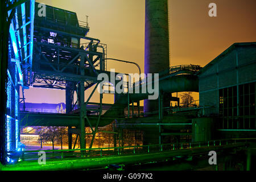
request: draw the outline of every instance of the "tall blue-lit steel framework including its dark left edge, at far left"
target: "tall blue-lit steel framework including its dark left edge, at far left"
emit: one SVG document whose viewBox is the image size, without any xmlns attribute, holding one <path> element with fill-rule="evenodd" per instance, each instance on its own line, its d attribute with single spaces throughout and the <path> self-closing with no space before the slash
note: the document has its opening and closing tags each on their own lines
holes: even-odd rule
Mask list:
<svg viewBox="0 0 256 182">
<path fill-rule="evenodd" d="M 31 75 L 35 1 L 1 1 L 1 163 L 13 163 L 19 142 L 19 88 Z M 4 89 L 5 88 L 5 89 Z"/>
</svg>

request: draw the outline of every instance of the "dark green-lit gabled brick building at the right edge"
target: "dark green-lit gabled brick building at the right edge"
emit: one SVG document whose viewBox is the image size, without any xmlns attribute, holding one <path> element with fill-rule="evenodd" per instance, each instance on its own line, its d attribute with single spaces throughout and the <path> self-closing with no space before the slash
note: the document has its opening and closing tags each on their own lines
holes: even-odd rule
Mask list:
<svg viewBox="0 0 256 182">
<path fill-rule="evenodd" d="M 230 137 L 255 135 L 255 63 L 255 42 L 234 43 L 199 72 L 204 115 Z"/>
</svg>

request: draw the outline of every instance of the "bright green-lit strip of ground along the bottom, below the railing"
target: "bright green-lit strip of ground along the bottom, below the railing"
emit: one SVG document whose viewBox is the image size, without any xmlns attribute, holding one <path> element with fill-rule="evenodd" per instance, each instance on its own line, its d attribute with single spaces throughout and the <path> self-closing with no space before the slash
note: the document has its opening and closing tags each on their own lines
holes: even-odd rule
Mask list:
<svg viewBox="0 0 256 182">
<path fill-rule="evenodd" d="M 57 159 L 47 160 L 45 165 L 39 165 L 38 161 L 32 162 L 19 162 L 18 164 L 9 164 L 2 166 L 1 170 L 4 171 L 44 171 L 44 170 L 72 170 L 72 169 L 89 169 L 89 168 L 104 168 L 109 164 L 122 164 L 122 165 L 135 165 L 135 164 L 148 164 L 154 162 L 163 162 L 173 160 L 177 156 L 207 156 L 211 150 L 222 151 L 232 148 L 243 148 L 244 143 L 230 144 L 225 146 L 209 146 L 197 147 L 188 150 L 172 150 L 155 152 L 152 154 L 134 154 L 134 155 L 115 155 L 115 156 L 102 156 L 97 158 L 76 158 L 76 159 Z"/>
</svg>

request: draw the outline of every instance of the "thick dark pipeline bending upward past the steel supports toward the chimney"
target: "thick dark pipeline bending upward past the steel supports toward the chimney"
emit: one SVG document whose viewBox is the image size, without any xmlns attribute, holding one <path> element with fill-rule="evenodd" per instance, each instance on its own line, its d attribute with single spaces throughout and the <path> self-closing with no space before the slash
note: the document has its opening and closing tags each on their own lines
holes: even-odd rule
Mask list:
<svg viewBox="0 0 256 182">
<path fill-rule="evenodd" d="M 176 75 L 159 81 L 159 92 L 199 92 L 199 81 L 195 75 Z M 105 114 L 101 115 L 99 127 L 109 125 L 123 115 L 123 109 L 128 104 L 127 93 L 118 94 L 115 104 Z M 138 102 L 148 97 L 148 93 L 130 93 L 129 104 Z M 22 126 L 79 126 L 79 115 L 74 114 L 43 114 L 21 112 Z M 98 116 L 88 115 L 92 126 L 96 126 Z M 121 121 L 123 118 L 120 118 Z M 151 118 L 156 121 L 154 118 Z M 185 119 L 185 118 L 184 118 Z M 183 119 L 183 121 L 185 121 Z M 131 121 L 134 122 L 134 121 Z M 136 121 L 135 121 L 136 122 Z M 139 123 L 150 123 L 150 118 L 139 118 Z M 170 122 L 170 118 L 163 118 L 163 122 Z M 187 122 L 187 120 L 185 121 Z M 85 126 L 89 126 L 85 121 Z M 166 126 L 167 127 L 167 126 Z"/>
</svg>

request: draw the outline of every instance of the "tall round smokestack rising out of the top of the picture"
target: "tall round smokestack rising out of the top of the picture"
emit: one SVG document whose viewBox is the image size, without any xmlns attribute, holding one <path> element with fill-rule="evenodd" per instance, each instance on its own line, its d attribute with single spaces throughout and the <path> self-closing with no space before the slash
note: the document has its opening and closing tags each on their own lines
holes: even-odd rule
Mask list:
<svg viewBox="0 0 256 182">
<path fill-rule="evenodd" d="M 168 0 L 146 0 L 145 6 L 144 72 L 159 73 L 170 67 Z M 144 100 L 144 112 L 154 110 L 158 100 Z"/>
</svg>

